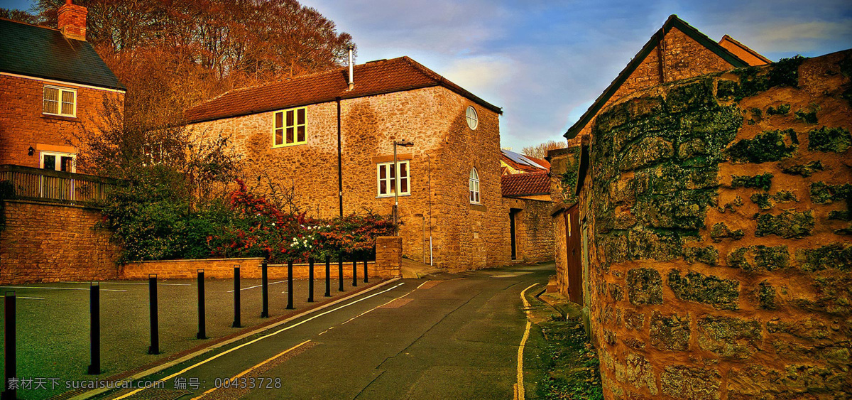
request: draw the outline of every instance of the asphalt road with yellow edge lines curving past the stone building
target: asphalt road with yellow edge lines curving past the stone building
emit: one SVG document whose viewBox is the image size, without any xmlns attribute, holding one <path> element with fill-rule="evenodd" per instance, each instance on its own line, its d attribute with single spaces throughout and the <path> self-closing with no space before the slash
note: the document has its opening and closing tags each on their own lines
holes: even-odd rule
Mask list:
<svg viewBox="0 0 852 400">
<path fill-rule="evenodd" d="M 511 398 L 520 294 L 543 290 L 553 268 L 394 281 L 144 378 L 164 386 L 106 397 Z"/>
</svg>

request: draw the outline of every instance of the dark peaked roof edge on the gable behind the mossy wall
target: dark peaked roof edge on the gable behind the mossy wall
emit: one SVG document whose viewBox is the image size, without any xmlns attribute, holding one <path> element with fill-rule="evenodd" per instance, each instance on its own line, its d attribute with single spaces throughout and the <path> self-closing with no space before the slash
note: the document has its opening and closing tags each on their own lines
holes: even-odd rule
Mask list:
<svg viewBox="0 0 852 400">
<path fill-rule="evenodd" d="M 654 33 L 653 36 L 648 40 L 648 43 L 645 43 L 645 45 L 642 46 L 642 49 L 639 50 L 639 53 L 636 53 L 636 56 L 634 56 L 633 59 L 630 60 L 630 62 L 627 64 L 627 67 L 625 67 L 625 69 L 619 72 L 619 76 L 617 76 L 615 80 L 613 80 L 613 83 L 609 84 L 606 90 L 603 90 L 601 96 L 597 97 L 595 102 L 592 103 L 591 107 L 589 107 L 589 109 L 586 110 L 585 113 L 583 113 L 583 115 L 580 117 L 580 119 L 577 120 L 576 123 L 574 123 L 574 125 L 571 125 L 571 127 L 568 128 L 568 130 L 565 132 L 565 135 L 563 136 L 565 136 L 567 139 L 573 139 L 575 136 L 577 136 L 579 131 L 582 130 L 585 125 L 588 124 L 589 121 L 594 118 L 599 111 L 601 111 L 601 108 L 606 105 L 607 101 L 609 101 L 609 99 L 615 94 L 615 92 L 619 90 L 621 84 L 624 84 L 625 80 L 627 80 L 627 78 L 630 78 L 630 74 L 636 71 L 636 67 L 639 67 L 639 65 L 642 64 L 642 61 L 645 60 L 645 57 L 647 57 L 648 54 L 651 53 L 651 51 L 657 47 L 659 42 L 665 37 L 665 34 L 671 31 L 671 28 L 673 27 L 685 33 L 689 38 L 692 38 L 694 41 L 700 43 L 705 48 L 711 50 L 713 53 L 721 57 L 722 60 L 727 61 L 728 64 L 734 66 L 734 68 L 749 66 L 746 61 L 741 60 L 740 57 L 737 57 L 736 55 L 734 55 L 734 53 L 731 53 L 730 51 L 728 51 L 728 49 L 725 49 L 719 43 L 714 42 L 711 38 L 707 38 L 704 33 L 699 32 L 693 26 L 690 26 L 688 23 L 684 22 L 680 18 L 677 18 L 676 14 L 671 14 L 669 16 L 669 19 L 665 21 L 665 24 L 663 24 L 663 26 L 659 28 L 659 31 Z"/>
</svg>

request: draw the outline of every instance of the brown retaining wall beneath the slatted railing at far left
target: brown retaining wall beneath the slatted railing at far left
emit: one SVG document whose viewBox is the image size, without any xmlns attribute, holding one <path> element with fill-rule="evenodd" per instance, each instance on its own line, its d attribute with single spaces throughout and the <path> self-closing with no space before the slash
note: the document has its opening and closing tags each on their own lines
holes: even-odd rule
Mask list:
<svg viewBox="0 0 852 400">
<path fill-rule="evenodd" d="M 101 212 L 18 200 L 0 202 L 0 285 L 118 278 L 118 247 L 95 229 Z"/>
</svg>

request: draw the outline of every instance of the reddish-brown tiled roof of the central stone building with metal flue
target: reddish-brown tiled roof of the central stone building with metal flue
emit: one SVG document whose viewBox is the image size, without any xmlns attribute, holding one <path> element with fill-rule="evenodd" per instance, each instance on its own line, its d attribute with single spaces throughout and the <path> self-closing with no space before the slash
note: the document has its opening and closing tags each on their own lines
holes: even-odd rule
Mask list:
<svg viewBox="0 0 852 400">
<path fill-rule="evenodd" d="M 186 118 L 187 121 L 195 123 L 307 106 L 333 101 L 337 97 L 352 99 L 432 86 L 443 86 L 495 113 L 503 113 L 500 107 L 474 96 L 458 84 L 453 84 L 408 57 L 371 61 L 353 68 L 353 90 L 348 90 L 348 68 L 337 68 L 230 90 L 222 96 L 188 109 Z"/>
</svg>

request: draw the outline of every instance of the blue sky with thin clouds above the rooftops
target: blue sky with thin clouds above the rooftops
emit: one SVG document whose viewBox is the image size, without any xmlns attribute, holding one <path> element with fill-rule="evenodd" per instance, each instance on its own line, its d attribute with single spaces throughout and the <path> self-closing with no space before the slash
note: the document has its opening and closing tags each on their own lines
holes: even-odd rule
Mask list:
<svg viewBox="0 0 852 400">
<path fill-rule="evenodd" d="M 28 9 L 26 0 L 0 7 Z M 777 61 L 852 48 L 849 0 L 303 0 L 353 35 L 357 62 L 408 55 L 503 107 L 502 146 L 562 133 L 670 14 Z"/>
</svg>

